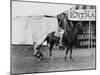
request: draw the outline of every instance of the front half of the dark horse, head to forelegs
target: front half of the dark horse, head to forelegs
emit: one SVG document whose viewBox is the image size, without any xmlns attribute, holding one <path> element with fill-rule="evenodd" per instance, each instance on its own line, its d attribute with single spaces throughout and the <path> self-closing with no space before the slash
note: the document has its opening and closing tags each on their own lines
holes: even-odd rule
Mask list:
<svg viewBox="0 0 100 75">
<path fill-rule="evenodd" d="M 80 23 L 77 23 L 71 28 L 70 31 L 64 32 L 62 41 L 66 48 L 65 60 L 67 59 L 67 55 L 69 51 L 70 51 L 70 59 L 73 59 L 72 51 L 77 39 L 77 35 L 79 33 L 82 33 L 83 30 L 84 30 L 84 27 Z"/>
</svg>

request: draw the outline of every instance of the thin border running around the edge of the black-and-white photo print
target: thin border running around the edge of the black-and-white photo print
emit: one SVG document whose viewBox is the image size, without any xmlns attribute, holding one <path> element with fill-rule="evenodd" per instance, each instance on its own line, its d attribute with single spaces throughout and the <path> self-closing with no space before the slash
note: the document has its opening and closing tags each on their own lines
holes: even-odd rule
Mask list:
<svg viewBox="0 0 100 75">
<path fill-rule="evenodd" d="M 87 71 L 87 70 L 96 70 L 97 69 L 97 46 L 95 47 L 95 68 L 91 69 L 77 69 L 77 70 L 60 70 L 60 71 L 46 71 L 46 72 L 30 72 L 30 73 L 17 73 L 12 74 L 12 56 L 11 56 L 11 46 L 12 46 L 12 1 L 16 2 L 31 2 L 31 3 L 44 3 L 44 4 L 59 4 L 59 5 L 86 5 L 86 6 L 95 6 L 96 13 L 96 27 L 97 27 L 97 7 L 96 5 L 87 5 L 87 4 L 73 4 L 73 3 L 57 3 L 57 2 L 42 2 L 42 1 L 24 1 L 24 0 L 10 0 L 10 74 L 39 74 L 39 73 L 54 73 L 54 72 L 71 72 L 71 71 Z M 97 28 L 96 28 L 97 29 Z M 96 31 L 96 39 L 97 39 L 97 31 Z M 96 41 L 97 45 L 97 41 Z"/>
</svg>

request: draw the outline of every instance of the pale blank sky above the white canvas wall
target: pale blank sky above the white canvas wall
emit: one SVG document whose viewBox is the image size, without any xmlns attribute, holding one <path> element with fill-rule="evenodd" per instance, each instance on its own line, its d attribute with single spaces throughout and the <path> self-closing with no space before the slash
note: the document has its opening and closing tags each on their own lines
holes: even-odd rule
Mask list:
<svg viewBox="0 0 100 75">
<path fill-rule="evenodd" d="M 36 2 L 12 2 L 12 17 L 16 16 L 56 16 L 64 11 L 69 10 L 74 5 L 64 4 L 47 4 Z"/>
</svg>

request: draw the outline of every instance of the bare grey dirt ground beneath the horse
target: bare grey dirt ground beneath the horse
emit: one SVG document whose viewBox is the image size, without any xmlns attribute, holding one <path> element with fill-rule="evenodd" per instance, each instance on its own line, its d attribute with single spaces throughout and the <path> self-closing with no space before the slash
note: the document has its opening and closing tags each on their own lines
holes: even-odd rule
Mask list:
<svg viewBox="0 0 100 75">
<path fill-rule="evenodd" d="M 65 50 L 54 48 L 54 59 L 50 59 L 48 47 L 42 47 L 41 51 L 44 57 L 37 62 L 32 46 L 12 46 L 12 74 L 95 69 L 95 48 L 74 49 L 73 60 L 67 58 L 67 61 L 64 60 Z"/>
</svg>

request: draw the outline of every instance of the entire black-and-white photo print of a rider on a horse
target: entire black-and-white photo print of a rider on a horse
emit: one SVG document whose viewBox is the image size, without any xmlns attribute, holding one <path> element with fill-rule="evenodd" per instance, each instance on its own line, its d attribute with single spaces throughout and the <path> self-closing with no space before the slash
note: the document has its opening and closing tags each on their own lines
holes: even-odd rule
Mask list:
<svg viewBox="0 0 100 75">
<path fill-rule="evenodd" d="M 96 69 L 96 6 L 11 1 L 11 74 Z"/>
</svg>

